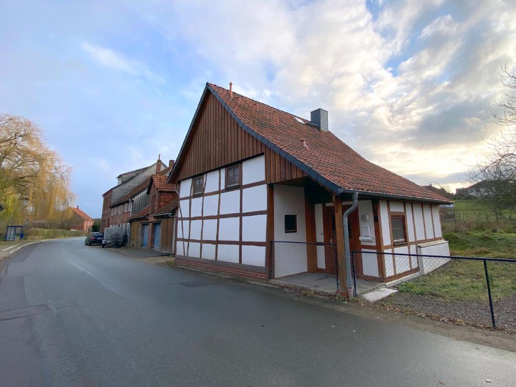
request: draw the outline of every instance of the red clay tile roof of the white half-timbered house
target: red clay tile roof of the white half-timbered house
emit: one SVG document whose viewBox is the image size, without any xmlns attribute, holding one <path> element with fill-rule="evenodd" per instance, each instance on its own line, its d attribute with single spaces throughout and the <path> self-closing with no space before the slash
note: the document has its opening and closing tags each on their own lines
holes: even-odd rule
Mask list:
<svg viewBox="0 0 516 387">
<path fill-rule="evenodd" d="M 336 193 L 351 190 L 449 202 L 436 192 L 368 162 L 331 132 L 302 124 L 292 114 L 243 95 L 233 93 L 230 98 L 229 90 L 220 86 L 208 83 L 206 87 L 244 130 Z M 309 149 L 303 148 L 302 138 Z"/>
</svg>

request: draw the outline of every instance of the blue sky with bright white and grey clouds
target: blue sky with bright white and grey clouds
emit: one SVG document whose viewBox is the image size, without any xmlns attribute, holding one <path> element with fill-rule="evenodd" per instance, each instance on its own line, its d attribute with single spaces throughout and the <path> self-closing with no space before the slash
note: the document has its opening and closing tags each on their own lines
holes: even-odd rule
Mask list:
<svg viewBox="0 0 516 387">
<path fill-rule="evenodd" d="M 100 217 L 124 171 L 181 147 L 207 81 L 309 117 L 416 183 L 461 186 L 495 135 L 503 1 L 2 2 L 0 112 L 36 122 Z"/>
</svg>

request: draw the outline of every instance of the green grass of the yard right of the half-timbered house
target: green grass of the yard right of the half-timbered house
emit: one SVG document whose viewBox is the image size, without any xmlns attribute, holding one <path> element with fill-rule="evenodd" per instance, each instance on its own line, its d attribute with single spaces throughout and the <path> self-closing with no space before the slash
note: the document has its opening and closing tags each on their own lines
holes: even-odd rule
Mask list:
<svg viewBox="0 0 516 387">
<path fill-rule="evenodd" d="M 515 263 L 488 262 L 494 300 L 516 292 L 516 233 L 493 231 L 448 232 L 452 255 L 514 259 Z M 451 301 L 487 300 L 486 278 L 481 261 L 452 260 L 415 280 L 398 285 L 400 292 L 434 296 Z"/>
</svg>

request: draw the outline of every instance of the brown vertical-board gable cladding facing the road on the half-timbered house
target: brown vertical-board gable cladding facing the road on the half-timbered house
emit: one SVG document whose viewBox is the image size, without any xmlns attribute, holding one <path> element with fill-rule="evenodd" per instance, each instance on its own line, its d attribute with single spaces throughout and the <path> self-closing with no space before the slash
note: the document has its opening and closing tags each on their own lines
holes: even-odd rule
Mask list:
<svg viewBox="0 0 516 387">
<path fill-rule="evenodd" d="M 186 144 L 178 181 L 265 152 L 265 145 L 245 132 L 207 93 Z"/>
</svg>

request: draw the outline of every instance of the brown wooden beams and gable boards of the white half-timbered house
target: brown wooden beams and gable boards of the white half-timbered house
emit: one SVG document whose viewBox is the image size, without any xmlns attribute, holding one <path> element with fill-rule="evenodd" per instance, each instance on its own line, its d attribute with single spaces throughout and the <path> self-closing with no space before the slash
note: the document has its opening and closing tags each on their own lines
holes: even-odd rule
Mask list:
<svg viewBox="0 0 516 387">
<path fill-rule="evenodd" d="M 337 231 L 337 259 L 338 259 L 338 267 L 339 267 L 339 278 L 340 283 L 346 283 L 346 265 L 345 265 L 345 254 L 344 254 L 344 235 L 343 235 L 343 227 L 342 227 L 342 202 L 349 201 L 348 195 L 335 195 L 335 191 L 330 190 L 330 188 L 334 189 L 335 187 L 333 183 L 326 182 L 325 185 L 321 184 L 316 179 L 312 172 L 309 173 L 309 169 L 305 165 L 301 165 L 297 160 L 294 160 L 291 156 L 287 157 L 287 154 L 281 151 L 274 144 L 261 138 L 261 136 L 257 136 L 255 133 L 250 134 L 249 128 L 246 129 L 246 126 L 240 121 L 235 119 L 236 117 L 229 108 L 225 107 L 221 100 L 215 95 L 209 87 L 206 87 L 203 97 L 199 103 L 196 114 L 192 120 L 190 125 L 188 134 L 185 138 L 183 146 L 180 151 L 180 156 L 172 170 L 172 173 L 169 176 L 169 182 L 175 183 L 180 182 L 182 180 L 188 178 L 195 178 L 198 175 L 211 172 L 220 168 L 228 167 L 234 165 L 236 163 L 241 163 L 246 159 L 256 157 L 259 155 L 265 156 L 265 181 L 259 182 L 260 184 L 267 184 L 267 210 L 264 212 L 259 212 L 260 214 L 267 214 L 267 230 L 266 230 L 266 242 L 264 243 L 252 243 L 253 245 L 263 246 L 266 248 L 266 267 L 265 272 L 267 276 L 270 277 L 274 275 L 273 267 L 271 265 L 272 254 L 271 251 L 271 241 L 274 237 L 274 206 L 273 206 L 273 197 L 274 190 L 273 184 L 275 183 L 286 183 L 293 185 L 303 185 L 303 182 L 311 181 L 312 184 L 318 185 L 318 187 L 326 192 L 329 196 L 329 200 L 326 202 L 333 202 L 334 211 L 335 211 L 335 223 L 336 223 L 336 231 Z M 314 130 L 317 130 L 314 128 Z M 292 161 L 289 161 L 291 159 Z M 295 165 L 294 162 L 298 165 Z M 220 174 L 220 172 L 219 172 Z M 241 177 L 240 177 L 241 178 Z M 317 183 L 315 183 L 317 181 Z M 297 184 L 296 184 L 297 182 Z M 204 182 L 205 184 L 205 182 Z M 241 217 L 246 215 L 257 215 L 258 213 L 249 213 L 244 214 L 241 209 L 241 190 L 247 188 L 249 185 L 243 186 L 240 184 L 239 187 L 229 188 L 229 190 L 239 189 L 240 190 L 240 212 L 235 214 L 227 214 L 220 215 L 218 213 L 217 216 L 213 218 L 217 220 L 217 242 L 216 244 L 216 255 L 218 244 L 238 244 L 240 246 L 239 253 L 239 262 L 241 263 L 241 246 L 247 244 L 243 242 L 241 239 Z M 220 176 L 219 176 L 219 190 L 215 192 L 207 192 L 204 195 L 216 194 L 226 191 L 224 187 L 220 186 Z M 308 190 L 305 187 L 305 218 L 306 218 L 306 240 L 314 241 L 315 240 L 315 220 L 314 220 L 314 203 L 321 203 L 325 201 L 313 200 L 308 197 Z M 189 192 L 188 197 L 191 197 L 191 190 Z M 181 200 L 184 200 L 185 197 L 181 197 Z M 361 199 L 359 197 L 359 199 Z M 369 198 L 370 199 L 370 198 Z M 204 200 L 203 200 L 204 202 Z M 377 252 L 383 252 L 386 249 L 393 248 L 391 245 L 385 246 L 383 244 L 382 238 L 382 226 L 381 226 L 381 216 L 380 216 L 380 208 L 379 208 L 379 200 L 372 199 L 373 204 L 373 213 L 375 216 L 374 222 L 374 234 L 376 245 L 369 246 L 364 245 L 360 246 L 361 249 L 375 249 Z M 420 203 L 412 203 L 407 202 L 404 205 L 420 205 Z M 423 205 L 423 204 L 421 204 Z M 220 207 L 220 199 L 219 199 L 219 207 Z M 219 208 L 220 209 L 220 208 Z M 358 209 L 356 210 L 358 211 Z M 239 216 L 240 217 L 240 240 L 238 242 L 235 241 L 221 241 L 218 240 L 218 224 L 219 219 L 223 217 L 230 216 Z M 412 216 L 414 216 L 414 212 L 412 211 Z M 389 213 L 390 217 L 390 213 Z M 433 217 L 433 215 L 432 215 Z M 208 217 L 204 217 L 207 219 Z M 179 220 L 181 220 L 181 214 L 179 214 Z M 185 220 L 193 220 L 195 218 L 185 217 Z M 406 210 L 405 210 L 405 219 L 406 219 Z M 433 219 L 433 218 L 432 218 Z M 390 221 L 390 220 L 389 220 Z M 188 223 L 188 227 L 190 227 L 191 223 Z M 358 224 L 355 225 L 358 228 Z M 415 226 L 414 226 L 415 227 Z M 426 227 L 426 225 L 425 225 Z M 432 224 L 433 227 L 433 224 Z M 392 234 L 392 230 L 391 230 Z M 411 242 L 409 244 L 417 244 L 430 240 L 437 240 L 438 238 L 426 239 L 425 240 L 417 240 L 415 242 Z M 178 243 L 183 242 L 185 239 L 178 238 Z M 189 240 L 189 239 L 188 239 Z M 198 243 L 214 243 L 213 241 L 203 240 L 202 239 L 202 230 L 201 230 L 201 239 L 198 240 L 190 240 L 192 242 Z M 392 235 L 391 235 L 392 241 Z M 202 245 L 201 245 L 202 246 Z M 397 246 L 396 246 L 397 247 Z M 202 247 L 201 247 L 202 249 Z M 308 249 L 308 247 L 307 247 Z M 185 255 L 188 252 L 185 251 Z M 310 254 L 313 255 L 313 254 Z M 372 280 L 392 280 L 397 278 L 398 276 L 406 276 L 410 274 L 410 272 L 396 273 L 395 275 L 387 278 L 385 276 L 385 265 L 383 261 L 383 254 L 378 254 L 378 270 L 380 278 L 371 278 Z M 202 255 L 201 255 L 202 256 Z M 204 261 L 204 260 L 202 260 Z M 220 262 L 222 263 L 222 262 Z M 229 268 L 234 266 L 233 264 L 224 262 Z M 201 263 L 199 263 L 201 266 Z M 246 266 L 246 265 L 240 265 Z M 311 261 L 308 262 L 309 269 L 316 268 L 316 262 Z M 237 270 L 235 268 L 234 270 Z M 251 270 L 251 269 L 250 269 Z M 412 268 L 414 272 L 418 270 L 417 267 Z M 236 272 L 236 271 L 235 271 Z M 241 274 L 241 273 L 240 273 Z M 244 273 L 244 275 L 246 275 Z M 261 271 L 257 277 L 263 278 Z"/>
</svg>

